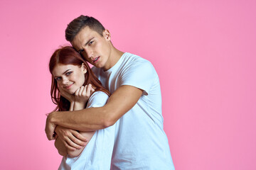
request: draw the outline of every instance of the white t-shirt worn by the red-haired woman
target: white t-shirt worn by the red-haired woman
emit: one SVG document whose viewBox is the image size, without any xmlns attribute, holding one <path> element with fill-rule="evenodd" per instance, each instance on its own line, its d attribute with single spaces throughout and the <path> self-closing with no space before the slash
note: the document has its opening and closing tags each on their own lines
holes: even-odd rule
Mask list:
<svg viewBox="0 0 256 170">
<path fill-rule="evenodd" d="M 87 108 L 104 106 L 108 96 L 102 91 L 95 91 L 90 96 Z M 63 157 L 59 170 L 68 169 L 105 169 L 110 170 L 111 157 L 114 147 L 115 125 L 97 130 L 78 157 Z"/>
</svg>

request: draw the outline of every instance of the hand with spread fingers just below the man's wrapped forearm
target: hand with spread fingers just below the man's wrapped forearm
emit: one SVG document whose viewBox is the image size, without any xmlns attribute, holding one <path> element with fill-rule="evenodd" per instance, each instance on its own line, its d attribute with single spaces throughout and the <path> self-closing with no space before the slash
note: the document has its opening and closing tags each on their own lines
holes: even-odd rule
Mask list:
<svg viewBox="0 0 256 170">
<path fill-rule="evenodd" d="M 78 131 L 57 126 L 55 132 L 58 139 L 63 142 L 65 147 L 69 150 L 81 149 L 87 143 L 87 139 L 82 136 Z"/>
</svg>

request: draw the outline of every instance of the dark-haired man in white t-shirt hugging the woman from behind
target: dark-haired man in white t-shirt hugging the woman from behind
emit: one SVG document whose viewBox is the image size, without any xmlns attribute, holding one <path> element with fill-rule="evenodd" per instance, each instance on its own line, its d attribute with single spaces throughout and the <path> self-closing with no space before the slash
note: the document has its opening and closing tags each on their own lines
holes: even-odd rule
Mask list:
<svg viewBox="0 0 256 170">
<path fill-rule="evenodd" d="M 152 64 L 117 50 L 110 32 L 92 17 L 75 18 L 65 37 L 95 66 L 93 72 L 112 95 L 100 108 L 50 113 L 46 120 L 48 139 L 54 139 L 56 125 L 92 131 L 117 123 L 112 169 L 174 169 L 163 130 L 159 77 Z M 76 148 L 84 140 L 79 133 L 63 137 L 66 147 Z"/>
</svg>

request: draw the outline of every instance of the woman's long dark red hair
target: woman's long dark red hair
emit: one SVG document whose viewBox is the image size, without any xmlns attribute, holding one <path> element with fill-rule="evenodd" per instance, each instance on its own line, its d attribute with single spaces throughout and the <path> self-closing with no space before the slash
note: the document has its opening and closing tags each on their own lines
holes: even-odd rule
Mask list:
<svg viewBox="0 0 256 170">
<path fill-rule="evenodd" d="M 87 72 L 85 73 L 85 83 L 83 85 L 85 86 L 88 84 L 92 84 L 92 86 L 96 87 L 95 91 L 103 91 L 108 96 L 110 96 L 110 91 L 108 91 L 102 86 L 100 80 L 97 79 L 95 74 L 93 74 L 92 69 L 90 69 L 87 62 L 85 62 L 85 60 L 82 59 L 81 55 L 77 51 L 75 51 L 73 47 L 62 47 L 58 50 L 55 50 L 53 55 L 50 57 L 49 62 L 50 74 L 52 74 L 50 96 L 52 98 L 53 103 L 57 105 L 55 111 L 68 111 L 70 108 L 70 102 L 63 96 L 60 96 L 57 81 L 53 77 L 54 67 L 57 64 L 73 64 L 77 66 L 82 66 L 82 63 L 85 64 L 85 68 L 87 69 Z"/>
</svg>

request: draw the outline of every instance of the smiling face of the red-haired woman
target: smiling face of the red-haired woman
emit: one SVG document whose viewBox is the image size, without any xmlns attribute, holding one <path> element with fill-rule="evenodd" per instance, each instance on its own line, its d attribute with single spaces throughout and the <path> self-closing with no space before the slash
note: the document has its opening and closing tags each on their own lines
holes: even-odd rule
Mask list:
<svg viewBox="0 0 256 170">
<path fill-rule="evenodd" d="M 75 94 L 75 91 L 85 83 L 85 66 L 73 64 L 57 64 L 53 68 L 53 77 L 57 81 L 58 88 L 67 91 L 69 94 Z"/>
</svg>

